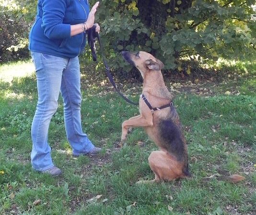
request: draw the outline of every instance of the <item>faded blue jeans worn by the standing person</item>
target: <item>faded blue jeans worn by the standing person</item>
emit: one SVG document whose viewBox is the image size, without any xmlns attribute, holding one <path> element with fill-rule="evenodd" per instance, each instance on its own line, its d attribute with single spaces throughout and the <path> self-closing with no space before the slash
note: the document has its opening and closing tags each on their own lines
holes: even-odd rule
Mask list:
<svg viewBox="0 0 256 215">
<path fill-rule="evenodd" d="M 64 104 L 64 122 L 73 155 L 93 150 L 92 142 L 81 128 L 80 65 L 78 57 L 62 58 L 37 52 L 31 53 L 37 79 L 38 102 L 32 122 L 32 167 L 44 171 L 54 166 L 51 159 L 48 129 L 58 107 L 59 92 Z"/>
</svg>

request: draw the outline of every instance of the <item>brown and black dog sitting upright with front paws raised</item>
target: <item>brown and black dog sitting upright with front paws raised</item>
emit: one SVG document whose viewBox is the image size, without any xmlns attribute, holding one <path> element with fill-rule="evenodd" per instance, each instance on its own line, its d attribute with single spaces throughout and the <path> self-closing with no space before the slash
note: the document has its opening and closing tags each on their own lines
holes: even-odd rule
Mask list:
<svg viewBox="0 0 256 215">
<path fill-rule="evenodd" d="M 139 101 L 140 115 L 122 123 L 121 143 L 127 139 L 132 127 L 143 127 L 160 149 L 152 151 L 148 159 L 155 179 L 138 183 L 190 178 L 186 140 L 173 106 L 173 96 L 163 81 L 163 63 L 146 52 L 123 51 L 122 56 L 139 69 L 143 77 L 143 88 Z M 244 177 L 232 175 L 222 179 L 235 183 Z"/>
</svg>

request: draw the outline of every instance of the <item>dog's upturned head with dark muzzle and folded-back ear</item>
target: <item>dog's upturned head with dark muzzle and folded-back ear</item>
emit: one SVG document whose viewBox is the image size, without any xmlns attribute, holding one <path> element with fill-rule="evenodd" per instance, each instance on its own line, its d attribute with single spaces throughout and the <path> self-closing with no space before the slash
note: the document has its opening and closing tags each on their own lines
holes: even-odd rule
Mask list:
<svg viewBox="0 0 256 215">
<path fill-rule="evenodd" d="M 146 52 L 132 53 L 123 51 L 122 56 L 129 64 L 136 66 L 142 76 L 148 70 L 160 71 L 163 69 L 163 63 Z"/>
</svg>

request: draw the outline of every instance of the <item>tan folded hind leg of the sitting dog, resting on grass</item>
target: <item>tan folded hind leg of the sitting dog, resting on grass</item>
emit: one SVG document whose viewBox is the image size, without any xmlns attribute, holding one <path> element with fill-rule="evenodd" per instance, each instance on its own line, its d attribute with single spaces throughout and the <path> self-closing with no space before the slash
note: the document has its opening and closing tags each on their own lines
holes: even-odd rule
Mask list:
<svg viewBox="0 0 256 215">
<path fill-rule="evenodd" d="M 149 164 L 151 170 L 155 174 L 152 181 L 140 181 L 138 183 L 174 181 L 179 178 L 186 178 L 183 169 L 183 162 L 179 162 L 176 158 L 165 151 L 152 151 L 149 156 Z"/>
</svg>

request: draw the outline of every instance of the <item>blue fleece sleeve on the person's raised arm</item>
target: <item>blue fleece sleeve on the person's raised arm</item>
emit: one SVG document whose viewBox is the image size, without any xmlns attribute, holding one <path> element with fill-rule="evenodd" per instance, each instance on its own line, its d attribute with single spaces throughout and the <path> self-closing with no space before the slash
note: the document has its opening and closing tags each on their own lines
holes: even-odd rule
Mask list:
<svg viewBox="0 0 256 215">
<path fill-rule="evenodd" d="M 63 19 L 67 9 L 66 0 L 42 0 L 42 28 L 49 39 L 64 39 L 70 37 L 70 24 L 64 24 Z"/>
</svg>

